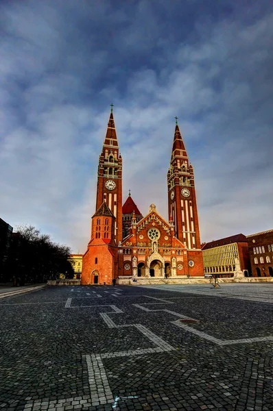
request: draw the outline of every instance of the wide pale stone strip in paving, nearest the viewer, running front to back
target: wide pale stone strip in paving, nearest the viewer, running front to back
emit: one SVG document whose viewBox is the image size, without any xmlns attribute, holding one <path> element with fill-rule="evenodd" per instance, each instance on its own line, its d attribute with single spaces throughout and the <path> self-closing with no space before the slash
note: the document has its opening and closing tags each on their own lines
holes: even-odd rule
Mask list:
<svg viewBox="0 0 273 411">
<path fill-rule="evenodd" d="M 88 370 L 91 405 L 100 406 L 114 402 L 102 358 L 100 356 L 86 355 L 85 359 Z"/>
</svg>

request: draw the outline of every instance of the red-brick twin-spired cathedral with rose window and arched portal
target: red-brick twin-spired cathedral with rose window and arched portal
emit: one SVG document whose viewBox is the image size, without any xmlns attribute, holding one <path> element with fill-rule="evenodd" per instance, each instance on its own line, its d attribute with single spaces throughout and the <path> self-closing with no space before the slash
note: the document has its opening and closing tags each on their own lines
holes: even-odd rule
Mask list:
<svg viewBox="0 0 273 411">
<path fill-rule="evenodd" d="M 99 155 L 97 199 L 91 239 L 82 258 L 82 285 L 111 284 L 112 279 L 202 276 L 198 211 L 193 166 L 176 118 L 167 171 L 169 221 L 151 204 L 143 216 L 129 191 L 122 203 L 122 158 L 112 113 Z M 136 282 L 137 283 L 137 282 Z M 134 283 L 133 283 L 134 284 Z"/>
</svg>

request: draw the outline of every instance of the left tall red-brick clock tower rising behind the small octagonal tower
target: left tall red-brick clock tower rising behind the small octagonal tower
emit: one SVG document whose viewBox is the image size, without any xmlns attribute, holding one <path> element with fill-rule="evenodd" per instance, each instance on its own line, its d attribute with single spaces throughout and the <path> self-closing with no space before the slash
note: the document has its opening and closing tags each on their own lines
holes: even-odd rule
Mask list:
<svg viewBox="0 0 273 411">
<path fill-rule="evenodd" d="M 96 210 L 103 201 L 115 216 L 114 239 L 116 245 L 119 245 L 122 240 L 122 158 L 119 153 L 112 107 L 102 154 L 99 155 Z"/>
</svg>

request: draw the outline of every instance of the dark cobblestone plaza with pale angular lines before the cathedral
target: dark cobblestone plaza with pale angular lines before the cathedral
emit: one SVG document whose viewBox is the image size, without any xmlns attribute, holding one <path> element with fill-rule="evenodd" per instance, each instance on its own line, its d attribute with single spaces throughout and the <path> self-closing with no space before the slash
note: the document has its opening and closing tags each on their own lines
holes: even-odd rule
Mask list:
<svg viewBox="0 0 273 411">
<path fill-rule="evenodd" d="M 273 284 L 0 301 L 0 410 L 273 410 Z"/>
</svg>

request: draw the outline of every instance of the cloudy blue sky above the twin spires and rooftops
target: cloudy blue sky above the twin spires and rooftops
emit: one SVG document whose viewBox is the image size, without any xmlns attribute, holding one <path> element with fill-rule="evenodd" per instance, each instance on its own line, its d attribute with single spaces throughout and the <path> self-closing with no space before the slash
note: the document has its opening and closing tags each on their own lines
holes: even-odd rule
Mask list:
<svg viewBox="0 0 273 411">
<path fill-rule="evenodd" d="M 202 242 L 273 228 L 273 3 L 1 0 L 0 217 L 84 253 L 110 103 L 128 190 L 167 219 L 174 116 Z"/>
</svg>

